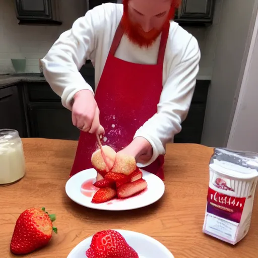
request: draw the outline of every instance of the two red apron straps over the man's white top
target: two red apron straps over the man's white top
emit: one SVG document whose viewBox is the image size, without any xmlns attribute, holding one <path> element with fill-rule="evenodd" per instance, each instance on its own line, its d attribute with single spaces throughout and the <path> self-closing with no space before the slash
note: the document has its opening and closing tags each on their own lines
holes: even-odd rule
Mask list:
<svg viewBox="0 0 258 258">
<path fill-rule="evenodd" d="M 159 45 L 159 54 L 158 54 L 158 59 L 157 59 L 157 64 L 163 66 L 163 61 L 164 61 L 164 56 L 165 56 L 165 50 L 167 46 L 167 39 L 168 39 L 168 34 L 169 34 L 169 25 L 165 26 L 164 30 L 162 31 L 161 39 L 160 39 L 160 45 Z M 121 38 L 123 36 L 124 30 L 122 28 L 121 22 L 119 23 L 113 41 L 112 45 L 109 49 L 109 54 L 112 56 L 115 55 L 116 49 L 120 44 Z"/>
</svg>

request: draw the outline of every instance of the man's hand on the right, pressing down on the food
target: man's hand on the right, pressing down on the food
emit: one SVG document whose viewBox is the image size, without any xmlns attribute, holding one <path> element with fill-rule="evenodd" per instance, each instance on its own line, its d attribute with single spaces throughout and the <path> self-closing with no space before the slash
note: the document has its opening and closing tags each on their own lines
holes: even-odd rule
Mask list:
<svg viewBox="0 0 258 258">
<path fill-rule="evenodd" d="M 153 150 L 151 144 L 143 137 L 136 137 L 131 144 L 119 151 L 126 155 L 135 157 L 136 162 L 146 163 L 152 155 Z"/>
</svg>

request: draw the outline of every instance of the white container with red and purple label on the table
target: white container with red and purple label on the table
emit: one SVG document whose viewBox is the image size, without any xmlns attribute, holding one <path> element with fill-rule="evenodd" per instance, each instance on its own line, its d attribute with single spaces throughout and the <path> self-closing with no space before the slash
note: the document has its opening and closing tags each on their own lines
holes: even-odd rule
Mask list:
<svg viewBox="0 0 258 258">
<path fill-rule="evenodd" d="M 258 180 L 258 153 L 215 148 L 203 231 L 236 244 L 247 234 Z"/>
</svg>

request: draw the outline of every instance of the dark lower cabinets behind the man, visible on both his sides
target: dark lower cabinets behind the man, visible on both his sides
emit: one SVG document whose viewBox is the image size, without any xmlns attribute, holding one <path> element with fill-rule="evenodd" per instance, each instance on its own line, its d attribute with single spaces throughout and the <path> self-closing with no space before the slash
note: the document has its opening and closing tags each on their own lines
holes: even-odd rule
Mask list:
<svg viewBox="0 0 258 258">
<path fill-rule="evenodd" d="M 94 69 L 87 61 L 81 74 L 94 89 Z M 210 81 L 197 80 L 182 131 L 174 143 L 201 143 Z M 80 130 L 73 125 L 72 112 L 45 81 L 21 82 L 0 88 L 0 128 L 16 129 L 23 138 L 78 140 Z"/>
</svg>

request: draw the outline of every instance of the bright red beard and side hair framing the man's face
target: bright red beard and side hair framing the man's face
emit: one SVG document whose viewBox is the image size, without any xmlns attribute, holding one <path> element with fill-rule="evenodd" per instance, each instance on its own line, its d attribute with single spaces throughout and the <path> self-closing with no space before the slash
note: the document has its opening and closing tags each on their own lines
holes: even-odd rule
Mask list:
<svg viewBox="0 0 258 258">
<path fill-rule="evenodd" d="M 153 28 L 152 30 L 145 32 L 141 25 L 137 23 L 133 23 L 128 16 L 128 1 L 123 0 L 123 16 L 121 19 L 121 25 L 124 30 L 124 34 L 128 37 L 130 41 L 139 45 L 140 47 L 149 47 L 154 43 L 157 37 L 160 35 L 161 31 L 166 26 L 169 26 L 170 20 L 172 20 L 175 16 L 175 10 L 178 7 L 174 2 L 178 2 L 178 0 L 173 1 L 171 8 L 169 10 L 166 21 L 160 29 Z"/>
</svg>

